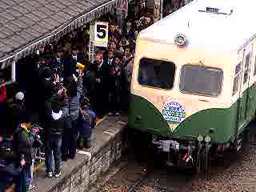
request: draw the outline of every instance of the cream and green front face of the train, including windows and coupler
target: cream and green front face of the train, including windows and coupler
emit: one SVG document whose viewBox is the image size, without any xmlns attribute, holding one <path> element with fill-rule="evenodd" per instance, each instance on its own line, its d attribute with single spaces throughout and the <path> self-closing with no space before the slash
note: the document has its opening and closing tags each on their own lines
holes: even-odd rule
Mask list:
<svg viewBox="0 0 256 192">
<path fill-rule="evenodd" d="M 237 131 L 232 63 L 230 55 L 138 39 L 129 127 L 149 133 L 170 164 L 200 167 Z"/>
</svg>

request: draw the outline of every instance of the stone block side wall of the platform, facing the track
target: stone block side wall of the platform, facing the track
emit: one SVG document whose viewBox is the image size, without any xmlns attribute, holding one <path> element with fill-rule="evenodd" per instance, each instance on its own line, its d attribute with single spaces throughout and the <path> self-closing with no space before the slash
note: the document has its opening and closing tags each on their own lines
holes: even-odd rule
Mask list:
<svg viewBox="0 0 256 192">
<path fill-rule="evenodd" d="M 122 157 L 122 151 L 128 147 L 126 137 L 127 130 L 123 128 L 110 142 L 106 143 L 97 154 L 90 159 L 81 162 L 80 166 L 74 168 L 67 174 L 58 185 L 47 192 L 86 192 L 90 189 L 100 175 L 106 173 L 110 166 Z"/>
</svg>

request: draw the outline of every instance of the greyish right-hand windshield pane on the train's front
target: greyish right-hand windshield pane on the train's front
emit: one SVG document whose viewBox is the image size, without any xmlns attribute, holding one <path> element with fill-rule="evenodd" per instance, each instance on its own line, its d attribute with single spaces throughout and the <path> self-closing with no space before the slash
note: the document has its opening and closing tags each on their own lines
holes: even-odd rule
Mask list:
<svg viewBox="0 0 256 192">
<path fill-rule="evenodd" d="M 222 91 L 223 72 L 206 66 L 182 66 L 179 89 L 186 94 L 218 97 Z"/>
</svg>

